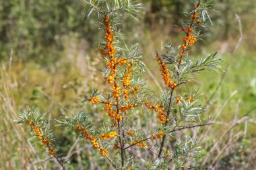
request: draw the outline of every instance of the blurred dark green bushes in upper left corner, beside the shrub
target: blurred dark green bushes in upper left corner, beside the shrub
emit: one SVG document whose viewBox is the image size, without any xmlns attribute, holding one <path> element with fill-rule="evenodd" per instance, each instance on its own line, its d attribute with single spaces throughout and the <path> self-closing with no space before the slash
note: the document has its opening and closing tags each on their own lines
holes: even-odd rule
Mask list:
<svg viewBox="0 0 256 170">
<path fill-rule="evenodd" d="M 0 6 L 1 59 L 13 51 L 15 60 L 33 59 L 46 66 L 61 57 L 64 36 L 93 32 L 84 27 L 79 1 L 1 1 Z"/>
</svg>

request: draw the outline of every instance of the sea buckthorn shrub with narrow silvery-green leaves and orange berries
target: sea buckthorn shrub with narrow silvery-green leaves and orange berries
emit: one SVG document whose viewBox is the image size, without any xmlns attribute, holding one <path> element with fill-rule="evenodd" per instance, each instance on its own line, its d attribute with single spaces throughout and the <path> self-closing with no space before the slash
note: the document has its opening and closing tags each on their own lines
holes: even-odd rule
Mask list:
<svg viewBox="0 0 256 170">
<path fill-rule="evenodd" d="M 99 28 L 104 33 L 97 48 L 99 57 L 105 64 L 100 69 L 102 79 L 108 87 L 107 91 L 88 91 L 84 95 L 84 102 L 101 105 L 101 113 L 107 114 L 108 120 L 102 123 L 100 129 L 94 128 L 94 121 L 90 120 L 90 114 L 86 112 L 57 121 L 88 140 L 92 149 L 110 163 L 110 169 L 189 168 L 189 165 L 193 165 L 189 161 L 200 155 L 200 143 L 196 136 L 182 137 L 171 145 L 166 142 L 170 143 L 175 132 L 211 124 L 208 120 L 200 119 L 203 108 L 199 102 L 198 90 L 186 85 L 200 71 L 220 70 L 218 63 L 221 60 L 216 58 L 216 53 L 197 60 L 188 56 L 189 50 L 201 39 L 207 28 L 205 22 L 210 19 L 207 11 L 212 9 L 212 3 L 206 0 L 195 1 L 195 6 L 186 13 L 187 20 L 174 25 L 177 32 L 184 34 L 181 45 L 174 48 L 167 44 L 160 52 L 156 52 L 154 62 L 166 85 L 164 93 L 157 98 L 152 97 L 150 87 L 140 77 L 145 65 L 138 45 L 127 47 L 121 39 L 121 29 L 118 27 L 121 15 L 139 18 L 140 5 L 129 0 L 84 2 L 88 7 L 86 19 L 89 19 L 91 13 L 97 13 Z M 181 88 L 182 86 L 186 88 Z M 180 93 L 181 90 L 183 93 Z M 135 120 L 141 115 L 137 113 L 145 109 L 148 109 L 148 116 L 157 114 L 158 124 L 137 128 Z M 31 126 L 35 136 L 46 146 L 49 155 L 55 157 L 65 169 L 48 137 L 51 132 L 40 124 L 42 121 L 38 121 L 38 112 L 34 112 L 29 110 L 22 113 L 19 122 Z M 143 154 L 136 155 L 136 150 L 150 151 L 151 155 L 146 160 Z"/>
</svg>

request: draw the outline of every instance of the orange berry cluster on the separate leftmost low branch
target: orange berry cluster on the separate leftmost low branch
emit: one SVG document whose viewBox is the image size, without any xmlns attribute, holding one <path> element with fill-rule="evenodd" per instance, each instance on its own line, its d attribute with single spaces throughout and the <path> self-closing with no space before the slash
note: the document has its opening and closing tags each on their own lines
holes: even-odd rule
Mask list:
<svg viewBox="0 0 256 170">
<path fill-rule="evenodd" d="M 55 151 L 53 151 L 53 147 L 51 146 L 52 145 L 51 142 L 49 142 L 49 140 L 46 140 L 44 138 L 44 136 L 42 134 L 42 131 L 40 130 L 40 127 L 38 125 L 35 125 L 32 120 L 27 120 L 27 121 L 28 121 L 28 124 L 33 127 L 33 130 L 36 133 L 36 136 L 38 136 L 38 138 L 40 138 L 40 140 L 42 141 L 44 146 L 46 148 L 48 148 L 49 155 L 55 155 Z"/>
</svg>

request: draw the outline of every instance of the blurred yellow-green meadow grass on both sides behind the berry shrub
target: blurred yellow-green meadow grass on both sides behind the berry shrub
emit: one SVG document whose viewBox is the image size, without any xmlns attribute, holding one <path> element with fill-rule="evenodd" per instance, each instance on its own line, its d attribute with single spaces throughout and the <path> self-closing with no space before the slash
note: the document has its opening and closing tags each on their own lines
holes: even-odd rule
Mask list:
<svg viewBox="0 0 256 170">
<path fill-rule="evenodd" d="M 201 135 L 204 135 L 202 141 L 205 144 L 203 146 L 205 151 L 203 151 L 202 155 L 207 156 L 207 154 L 210 154 L 210 159 L 207 159 L 206 162 L 207 165 L 211 165 L 214 158 L 218 156 L 218 151 L 214 150 L 210 152 L 214 143 L 219 142 L 218 148 L 225 146 L 230 132 L 224 136 L 223 140 L 220 140 L 220 136 L 222 136 L 226 129 L 230 128 L 236 113 L 238 113 L 236 120 L 248 116 L 249 120 L 255 121 L 256 77 L 254 63 L 256 57 L 253 55 L 230 56 L 227 54 L 221 57 L 224 60 L 222 69 L 226 69 L 228 65 L 229 69 L 218 91 L 216 91 L 216 87 L 223 73 L 204 72 L 202 75 L 197 76 L 195 81 L 190 83 L 191 85 L 199 85 L 201 93 L 205 94 L 205 97 L 202 98 L 202 103 L 205 103 L 216 91 L 214 97 L 209 102 L 210 106 L 205 110 L 204 116 L 212 115 L 212 121 L 214 121 L 214 118 L 219 113 L 219 116 L 215 120 L 218 124 L 212 126 L 212 129 L 207 134 L 204 134 L 207 128 L 201 128 L 200 130 Z M 100 81 L 102 77 L 97 69 L 94 69 L 96 63 L 96 59 L 92 60 L 92 58 L 88 57 L 81 58 L 81 56 L 63 58 L 57 63 L 56 67 L 49 67 L 47 69 L 36 65 L 34 62 L 2 63 L 0 69 L 0 124 L 1 136 L 5 137 L 1 139 L 0 145 L 2 151 L 1 168 L 21 169 L 22 167 L 31 167 L 33 169 L 33 167 L 38 167 L 40 169 L 41 167 L 43 169 L 42 167 L 44 165 L 51 168 L 55 167 L 55 163 L 52 163 L 52 161 L 51 163 L 47 161 L 33 163 L 34 161 L 47 159 L 46 153 L 42 149 L 42 146 L 38 146 L 38 142 L 31 137 L 27 128 L 24 128 L 20 124 L 15 124 L 13 121 L 17 118 L 17 112 L 24 110 L 27 106 L 37 107 L 42 112 L 47 112 L 46 116 L 49 120 L 59 118 L 58 116 L 68 115 L 69 111 L 67 110 L 73 113 L 81 110 L 87 110 L 91 114 L 94 113 L 92 111 L 95 108 L 91 108 L 91 105 L 82 105 L 79 102 L 79 98 L 82 99 L 81 95 L 84 91 L 90 89 L 92 84 L 97 85 L 98 89 L 104 88 L 104 83 Z M 150 63 L 148 68 L 150 68 L 153 77 L 150 77 L 147 72 L 144 75 L 148 77 L 148 85 L 153 87 L 150 90 L 157 94 L 159 89 L 154 79 L 159 80 L 160 73 L 154 69 L 156 65 L 154 60 L 148 60 L 147 63 Z M 160 85 L 162 84 L 160 83 Z M 236 94 L 230 97 L 234 91 L 237 91 Z M 230 99 L 228 99 L 229 97 Z M 240 105 L 238 105 L 239 102 Z M 100 108 L 97 110 L 100 113 Z M 143 121 L 140 122 L 138 119 L 137 123 L 144 124 L 144 126 L 146 126 L 144 121 L 154 123 L 154 116 L 149 120 L 147 114 L 150 113 L 141 114 L 140 119 Z M 102 114 L 92 114 L 92 119 L 96 122 L 100 122 L 100 118 L 105 117 Z M 255 123 L 249 120 L 247 121 L 246 134 L 240 136 L 230 144 L 230 149 L 218 157 L 218 162 L 226 163 L 227 161 L 225 160 L 233 160 L 233 157 L 241 157 L 243 158 L 242 161 L 246 161 L 247 157 L 245 155 L 249 155 L 251 151 L 255 151 L 255 146 L 253 145 L 254 138 L 256 137 Z M 65 130 L 63 131 L 62 128 L 57 128 L 53 124 L 56 124 L 56 122 L 51 121 L 51 128 L 55 129 L 54 134 L 57 137 L 57 141 L 67 141 L 65 142 L 67 144 L 65 149 L 64 144 L 63 149 L 61 149 L 61 151 L 67 153 L 76 140 L 75 134 L 70 134 Z M 245 122 L 234 126 L 232 133 L 238 134 L 238 132 L 245 132 Z M 77 147 L 84 148 L 83 143 L 79 142 Z M 237 149 L 237 145 L 245 148 L 240 152 Z M 239 152 L 232 153 L 234 151 L 233 149 Z M 98 158 L 97 153 L 94 153 L 94 151 L 91 153 L 86 148 L 79 153 L 79 156 L 81 156 L 82 162 L 77 162 L 77 155 L 71 157 L 71 164 L 68 165 L 71 169 L 76 169 L 75 167 L 79 163 L 82 163 L 84 168 L 89 168 L 86 166 L 89 166 L 88 163 L 92 161 L 94 161 L 94 167 L 104 165 L 103 159 L 96 159 Z M 255 155 L 251 154 L 251 157 L 255 157 Z"/>
</svg>

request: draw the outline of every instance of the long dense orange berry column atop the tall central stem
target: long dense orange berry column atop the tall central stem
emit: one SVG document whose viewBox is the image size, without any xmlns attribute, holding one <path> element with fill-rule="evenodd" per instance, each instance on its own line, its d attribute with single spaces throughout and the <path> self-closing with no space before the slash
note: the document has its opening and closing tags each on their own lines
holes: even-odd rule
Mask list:
<svg viewBox="0 0 256 170">
<path fill-rule="evenodd" d="M 110 19 L 108 15 L 104 17 L 104 28 L 105 28 L 105 37 L 106 37 L 106 50 L 108 56 L 114 56 L 115 48 L 113 47 L 113 33 L 111 32 L 111 26 L 109 24 Z"/>
</svg>

